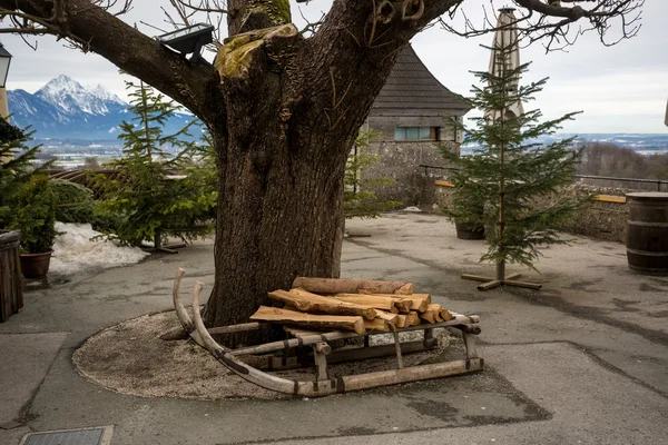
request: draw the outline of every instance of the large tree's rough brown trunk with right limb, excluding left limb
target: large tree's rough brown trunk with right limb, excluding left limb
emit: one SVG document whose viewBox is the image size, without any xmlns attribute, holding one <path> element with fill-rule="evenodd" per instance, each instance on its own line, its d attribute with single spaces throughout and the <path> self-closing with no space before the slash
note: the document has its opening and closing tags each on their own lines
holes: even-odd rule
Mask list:
<svg viewBox="0 0 668 445">
<path fill-rule="evenodd" d="M 218 52 L 226 108 L 208 121 L 219 197 L 207 325 L 246 323 L 271 304 L 268 291 L 288 289 L 296 276 L 338 275 L 347 155 L 396 56 L 419 29 L 395 23 L 390 39 L 373 40 L 371 4 L 335 3 L 311 39 L 288 28 L 279 38 L 259 30 L 262 47 L 233 37 Z M 333 33 L 340 37 L 327 37 Z M 237 69 L 238 55 L 244 69 Z"/>
</svg>

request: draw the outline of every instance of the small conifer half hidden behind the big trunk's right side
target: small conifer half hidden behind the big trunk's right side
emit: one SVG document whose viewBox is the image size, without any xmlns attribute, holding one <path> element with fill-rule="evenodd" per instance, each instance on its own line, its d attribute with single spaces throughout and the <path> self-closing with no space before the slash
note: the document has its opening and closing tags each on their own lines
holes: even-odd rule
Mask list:
<svg viewBox="0 0 668 445">
<path fill-rule="evenodd" d="M 382 211 L 394 210 L 402 202 L 394 200 L 380 200 L 374 188 L 393 184 L 390 178 L 364 178 L 363 171 L 377 162 L 379 156 L 366 152 L 371 139 L 377 137 L 372 130 L 360 131 L 348 156 L 343 178 L 345 190 L 343 192 L 343 211 L 346 218 L 377 218 Z"/>
</svg>

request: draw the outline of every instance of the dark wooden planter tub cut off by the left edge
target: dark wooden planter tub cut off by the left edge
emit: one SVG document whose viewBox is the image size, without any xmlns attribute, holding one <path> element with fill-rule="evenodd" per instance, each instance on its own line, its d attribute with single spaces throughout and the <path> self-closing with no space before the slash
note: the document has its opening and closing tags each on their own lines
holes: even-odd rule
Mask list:
<svg viewBox="0 0 668 445">
<path fill-rule="evenodd" d="M 23 308 L 19 243 L 18 231 L 0 231 L 0 322 Z"/>
</svg>

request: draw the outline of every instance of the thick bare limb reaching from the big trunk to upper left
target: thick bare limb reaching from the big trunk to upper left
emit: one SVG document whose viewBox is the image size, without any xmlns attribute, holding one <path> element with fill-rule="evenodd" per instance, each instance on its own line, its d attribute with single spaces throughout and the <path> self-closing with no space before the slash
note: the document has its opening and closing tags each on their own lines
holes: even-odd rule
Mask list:
<svg viewBox="0 0 668 445">
<path fill-rule="evenodd" d="M 119 9 L 114 9 L 120 7 Z M 0 0 L 0 32 L 53 34 L 84 51 L 94 51 L 198 116 L 205 113 L 207 82 L 215 79 L 208 65 L 193 65 L 157 40 L 118 18 L 130 8 L 124 0 Z"/>
</svg>

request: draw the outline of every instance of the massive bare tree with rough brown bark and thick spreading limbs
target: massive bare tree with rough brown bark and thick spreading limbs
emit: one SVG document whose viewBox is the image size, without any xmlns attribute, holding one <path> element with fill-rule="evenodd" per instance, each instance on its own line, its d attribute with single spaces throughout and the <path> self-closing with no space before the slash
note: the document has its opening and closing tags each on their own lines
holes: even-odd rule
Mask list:
<svg viewBox="0 0 668 445">
<path fill-rule="evenodd" d="M 343 174 L 355 135 L 401 49 L 456 3 L 412 2 L 424 4 L 423 13 L 403 19 L 395 7 L 374 10 L 380 2 L 335 0 L 305 39 L 294 27 L 267 34 L 275 30 L 267 27 L 289 21 L 287 0 L 229 0 L 232 38 L 216 73 L 90 0 L 62 3 L 65 23 L 51 19 L 50 0 L 0 0 L 8 11 L 32 14 L 47 32 L 86 42 L 207 125 L 219 191 L 209 327 L 246 323 L 268 291 L 289 288 L 297 276 L 337 277 Z M 234 57 L 222 65 L 225 53 Z"/>
</svg>

